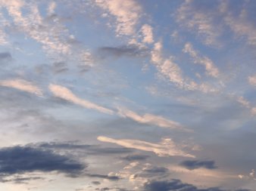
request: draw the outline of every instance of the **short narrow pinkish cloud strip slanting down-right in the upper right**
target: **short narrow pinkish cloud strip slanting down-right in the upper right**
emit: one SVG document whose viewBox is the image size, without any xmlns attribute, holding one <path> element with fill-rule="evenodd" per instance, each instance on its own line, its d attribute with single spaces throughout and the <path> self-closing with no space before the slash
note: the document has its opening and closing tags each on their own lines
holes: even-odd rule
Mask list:
<svg viewBox="0 0 256 191">
<path fill-rule="evenodd" d="M 183 52 L 188 53 L 192 57 L 194 63 L 203 65 L 208 75 L 211 75 L 214 78 L 218 77 L 219 70 L 216 66 L 214 66 L 213 61 L 208 57 L 200 56 L 198 51 L 195 51 L 191 43 L 186 43 L 185 47 L 183 48 Z"/>
</svg>

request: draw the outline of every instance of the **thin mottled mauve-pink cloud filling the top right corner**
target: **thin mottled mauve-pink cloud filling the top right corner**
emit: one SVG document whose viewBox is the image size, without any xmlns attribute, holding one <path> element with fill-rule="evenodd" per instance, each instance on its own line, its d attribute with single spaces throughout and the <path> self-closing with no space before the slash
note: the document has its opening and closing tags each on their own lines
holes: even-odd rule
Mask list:
<svg viewBox="0 0 256 191">
<path fill-rule="evenodd" d="M 220 38 L 231 30 L 237 39 L 245 39 L 248 45 L 256 45 L 254 2 L 242 1 L 233 6 L 230 1 L 209 2 L 186 1 L 176 11 L 176 21 L 189 31 L 195 32 L 205 45 L 221 46 Z"/>
</svg>

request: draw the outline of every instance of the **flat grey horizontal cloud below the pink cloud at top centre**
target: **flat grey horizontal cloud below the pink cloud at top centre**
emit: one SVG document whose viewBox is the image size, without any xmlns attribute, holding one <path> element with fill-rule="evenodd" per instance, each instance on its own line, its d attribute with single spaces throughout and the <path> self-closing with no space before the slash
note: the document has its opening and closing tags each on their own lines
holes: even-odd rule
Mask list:
<svg viewBox="0 0 256 191">
<path fill-rule="evenodd" d="M 136 46 L 118 46 L 118 47 L 101 47 L 98 48 L 100 57 L 145 57 L 148 55 L 146 49 Z"/>
</svg>

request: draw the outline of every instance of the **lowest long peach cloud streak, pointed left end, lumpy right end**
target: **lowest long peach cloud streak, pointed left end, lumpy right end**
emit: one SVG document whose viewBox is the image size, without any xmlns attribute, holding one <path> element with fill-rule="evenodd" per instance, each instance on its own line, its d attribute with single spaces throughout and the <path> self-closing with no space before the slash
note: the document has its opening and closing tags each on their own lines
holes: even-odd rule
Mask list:
<svg viewBox="0 0 256 191">
<path fill-rule="evenodd" d="M 176 144 L 170 139 L 164 139 L 161 143 L 149 143 L 142 140 L 117 140 L 102 136 L 99 136 L 97 139 L 106 143 L 115 143 L 126 148 L 155 152 L 158 156 L 183 156 L 195 158 L 195 156 L 179 149 L 178 146 L 176 146 Z"/>
</svg>

